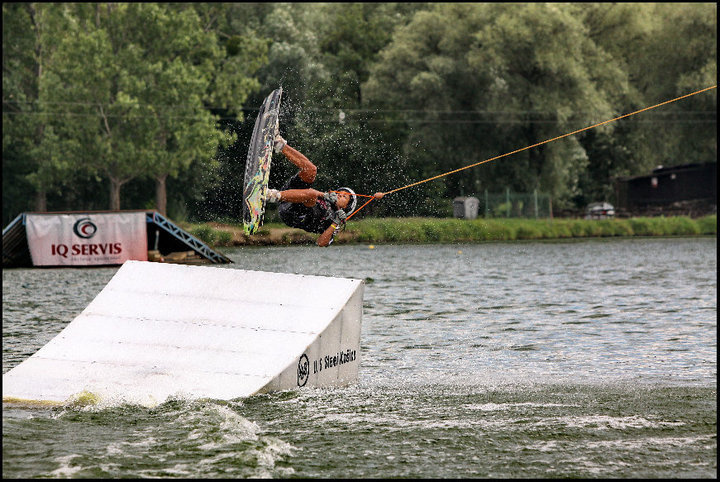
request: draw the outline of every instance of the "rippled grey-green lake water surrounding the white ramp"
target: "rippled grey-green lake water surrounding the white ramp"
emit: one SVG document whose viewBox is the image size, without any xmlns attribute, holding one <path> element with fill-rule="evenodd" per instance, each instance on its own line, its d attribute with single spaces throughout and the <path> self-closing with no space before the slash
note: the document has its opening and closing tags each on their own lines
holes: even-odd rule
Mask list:
<svg viewBox="0 0 720 482">
<path fill-rule="evenodd" d="M 223 250 L 364 279 L 358 383 L 3 406 L 3 477 L 716 478 L 716 243 Z M 3 373 L 116 271 L 4 270 Z"/>
</svg>

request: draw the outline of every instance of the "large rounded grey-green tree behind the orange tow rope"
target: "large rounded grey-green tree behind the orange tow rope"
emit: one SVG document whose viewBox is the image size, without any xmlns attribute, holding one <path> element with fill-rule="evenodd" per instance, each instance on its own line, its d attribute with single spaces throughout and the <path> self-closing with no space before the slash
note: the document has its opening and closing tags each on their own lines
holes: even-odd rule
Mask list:
<svg viewBox="0 0 720 482">
<path fill-rule="evenodd" d="M 626 85 L 568 5 L 452 4 L 419 12 L 400 29 L 366 95 L 417 112 L 407 150 L 415 170 L 431 175 L 605 120 Z M 567 200 L 586 164 L 568 138 L 443 181 L 449 195 L 465 178 L 470 189 L 539 188 Z"/>
</svg>

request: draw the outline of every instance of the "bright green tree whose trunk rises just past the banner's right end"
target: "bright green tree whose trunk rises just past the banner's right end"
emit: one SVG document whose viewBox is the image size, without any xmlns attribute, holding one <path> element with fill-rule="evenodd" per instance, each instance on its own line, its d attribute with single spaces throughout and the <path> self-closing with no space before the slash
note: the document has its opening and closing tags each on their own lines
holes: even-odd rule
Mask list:
<svg viewBox="0 0 720 482">
<path fill-rule="evenodd" d="M 146 153 L 147 173 L 155 180 L 155 207 L 166 214 L 168 177 L 177 177 L 194 161 L 210 168 L 218 146 L 232 142 L 208 107 L 237 111 L 247 92 L 236 86 L 248 78 L 236 71 L 235 80 L 227 80 L 225 49 L 195 9 L 132 4 L 127 16 L 129 25 L 142 25 L 141 31 L 131 31 L 143 46 L 142 59 L 136 59 L 143 70 L 134 72 L 143 79 L 143 89 L 136 95 L 152 119 L 148 129 L 156 148 Z"/>
</svg>

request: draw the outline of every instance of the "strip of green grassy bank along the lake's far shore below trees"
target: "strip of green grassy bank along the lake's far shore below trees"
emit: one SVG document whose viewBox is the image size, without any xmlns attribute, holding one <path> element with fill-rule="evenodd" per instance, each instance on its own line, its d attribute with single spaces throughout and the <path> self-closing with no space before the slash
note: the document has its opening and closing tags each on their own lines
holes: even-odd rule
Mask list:
<svg viewBox="0 0 720 482">
<path fill-rule="evenodd" d="M 314 243 L 317 235 L 269 223 L 251 237 L 241 224 L 185 224 L 187 231 L 212 246 Z M 336 243 L 472 243 L 614 236 L 717 235 L 717 216 L 589 219 L 446 219 L 368 218 L 348 223 Z"/>
</svg>

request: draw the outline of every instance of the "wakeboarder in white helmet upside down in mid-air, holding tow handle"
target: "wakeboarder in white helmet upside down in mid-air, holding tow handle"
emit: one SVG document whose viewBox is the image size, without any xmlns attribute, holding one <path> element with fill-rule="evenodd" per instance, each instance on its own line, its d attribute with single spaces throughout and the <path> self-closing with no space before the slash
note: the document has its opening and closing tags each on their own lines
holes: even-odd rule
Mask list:
<svg viewBox="0 0 720 482">
<path fill-rule="evenodd" d="M 328 192 L 313 189 L 317 175 L 315 164 L 289 146 L 279 134 L 275 136 L 274 150 L 282 152 L 300 170 L 285 182 L 282 189 L 268 189 L 267 201 L 278 203 L 278 214 L 285 224 L 309 233 L 319 233 L 317 245 L 329 246 L 357 207 L 355 191 L 349 187 Z M 382 199 L 383 196 L 378 192 L 373 197 Z"/>
</svg>

